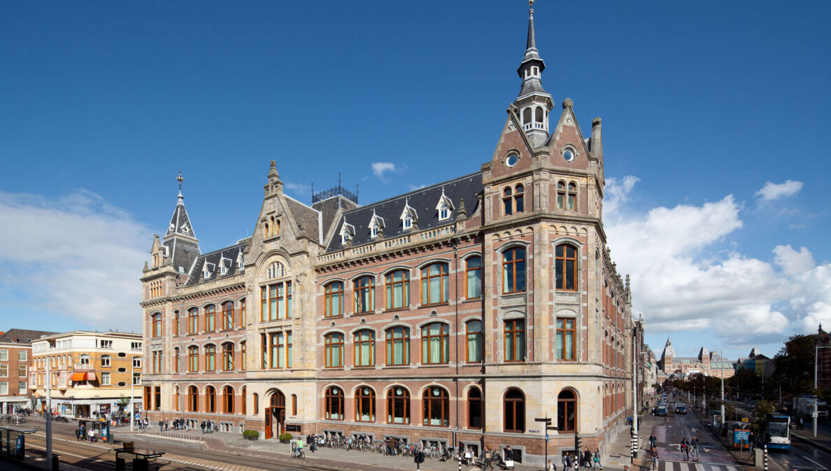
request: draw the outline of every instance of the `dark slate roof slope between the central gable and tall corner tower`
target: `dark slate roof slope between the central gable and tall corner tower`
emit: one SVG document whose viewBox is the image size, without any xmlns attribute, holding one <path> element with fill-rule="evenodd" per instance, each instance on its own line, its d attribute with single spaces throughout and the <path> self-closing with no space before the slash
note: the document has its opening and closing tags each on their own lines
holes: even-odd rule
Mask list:
<svg viewBox="0 0 831 471">
<path fill-rule="evenodd" d="M 442 191 L 444 191 L 445 196 L 450 198 L 454 206 L 453 211 L 450 211 L 450 219 L 445 221 L 439 221 L 438 211 L 435 210 Z M 404 231 L 401 223 L 401 212 L 404 211 L 406 203 L 409 203 L 410 206 L 415 208 L 419 216 L 417 221 L 418 231 L 423 231 L 434 227 L 455 224 L 456 218 L 459 216 L 460 201 L 462 199 L 465 200 L 465 211 L 468 216 L 473 214 L 479 205 L 477 195 L 482 191 L 484 191 L 482 172 L 477 171 L 453 180 L 420 188 L 419 190 L 411 191 L 401 196 L 393 196 L 384 201 L 378 201 L 371 205 L 360 206 L 356 209 L 345 211 L 335 223 L 337 227 L 332 233 L 332 238 L 328 240 L 327 252 L 341 250 L 343 248 L 340 236 L 343 221 L 347 221 L 348 224 L 355 226 L 352 246 L 364 245 L 375 241 L 375 239 L 370 237 L 369 230 L 369 223 L 372 220 L 373 214 L 381 216 L 384 219 L 384 238 L 391 239 L 415 231 L 415 229 Z"/>
</svg>

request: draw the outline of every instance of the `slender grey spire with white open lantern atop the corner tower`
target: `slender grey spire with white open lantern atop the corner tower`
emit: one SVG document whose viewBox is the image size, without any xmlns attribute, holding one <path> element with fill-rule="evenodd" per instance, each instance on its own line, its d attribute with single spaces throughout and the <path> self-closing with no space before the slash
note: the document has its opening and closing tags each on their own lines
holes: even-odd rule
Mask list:
<svg viewBox="0 0 831 471">
<path fill-rule="evenodd" d="M 522 79 L 519 96 L 514 100 L 523 130 L 534 146 L 541 146 L 548 140 L 548 112 L 554 107 L 551 95 L 543 89 L 545 62 L 539 57 L 534 37 L 534 0 L 529 0 L 528 42 L 525 56 L 517 73 Z"/>
</svg>

